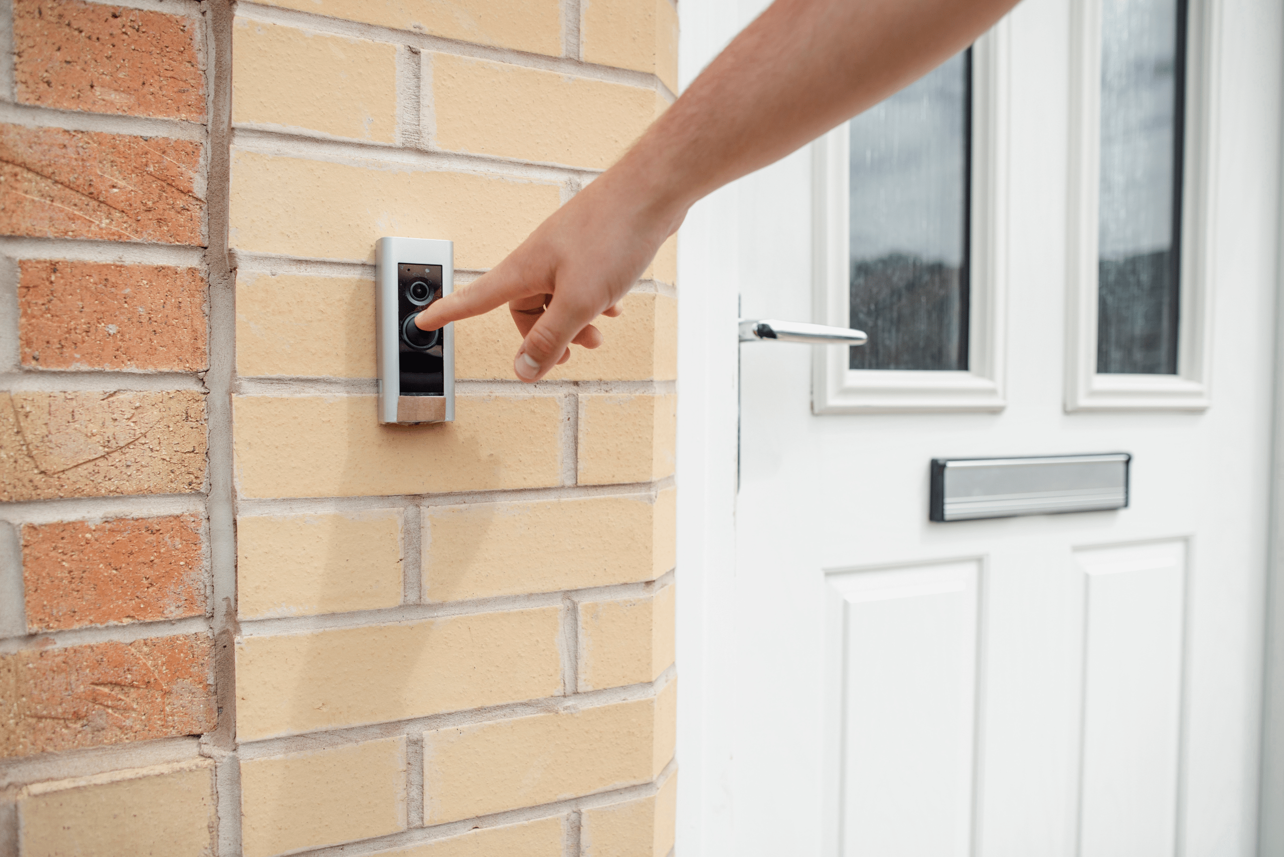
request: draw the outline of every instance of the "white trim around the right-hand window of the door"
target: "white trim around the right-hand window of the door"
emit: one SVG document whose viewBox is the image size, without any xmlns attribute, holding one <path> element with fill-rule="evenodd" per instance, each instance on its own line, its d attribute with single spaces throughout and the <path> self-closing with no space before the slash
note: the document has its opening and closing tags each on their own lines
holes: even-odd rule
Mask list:
<svg viewBox="0 0 1284 857">
<path fill-rule="evenodd" d="M 1097 372 L 1102 0 L 1073 4 L 1066 411 L 1203 411 L 1212 380 L 1212 236 L 1220 0 L 1189 0 L 1177 375 Z"/>
</svg>

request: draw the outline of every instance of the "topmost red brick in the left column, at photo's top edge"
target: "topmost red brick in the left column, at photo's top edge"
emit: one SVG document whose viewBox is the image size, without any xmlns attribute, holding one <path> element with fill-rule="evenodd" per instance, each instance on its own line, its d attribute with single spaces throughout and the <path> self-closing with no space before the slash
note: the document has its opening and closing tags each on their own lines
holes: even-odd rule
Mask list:
<svg viewBox="0 0 1284 857">
<path fill-rule="evenodd" d="M 80 0 L 14 0 L 18 101 L 200 122 L 205 87 L 190 18 Z"/>
</svg>

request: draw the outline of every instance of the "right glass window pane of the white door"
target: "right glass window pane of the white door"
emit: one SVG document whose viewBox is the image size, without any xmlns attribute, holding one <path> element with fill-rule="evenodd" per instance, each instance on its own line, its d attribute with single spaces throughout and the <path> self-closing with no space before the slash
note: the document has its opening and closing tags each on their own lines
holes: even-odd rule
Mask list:
<svg viewBox="0 0 1284 857">
<path fill-rule="evenodd" d="M 1097 371 L 1176 375 L 1181 0 L 1103 0 Z"/>
</svg>

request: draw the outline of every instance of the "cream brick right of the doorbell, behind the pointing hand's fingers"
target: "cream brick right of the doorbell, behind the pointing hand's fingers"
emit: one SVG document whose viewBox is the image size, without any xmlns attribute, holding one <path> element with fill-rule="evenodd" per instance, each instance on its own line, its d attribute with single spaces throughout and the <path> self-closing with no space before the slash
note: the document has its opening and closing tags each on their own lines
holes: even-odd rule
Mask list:
<svg viewBox="0 0 1284 857">
<path fill-rule="evenodd" d="M 547 375 L 551 381 L 672 381 L 678 372 L 678 301 L 668 295 L 632 293 L 620 316 L 593 323 L 601 348 L 570 346 L 570 361 Z M 521 335 L 508 307 L 455 322 L 455 373 L 461 378 L 512 378 Z"/>
</svg>

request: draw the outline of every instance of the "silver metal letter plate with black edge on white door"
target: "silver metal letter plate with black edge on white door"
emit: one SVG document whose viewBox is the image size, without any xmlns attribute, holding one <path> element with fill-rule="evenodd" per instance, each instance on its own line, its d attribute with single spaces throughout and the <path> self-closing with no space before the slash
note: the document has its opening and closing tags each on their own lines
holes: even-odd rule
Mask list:
<svg viewBox="0 0 1284 857">
<path fill-rule="evenodd" d="M 933 458 L 932 521 L 1098 512 L 1127 505 L 1127 453 Z"/>
</svg>

